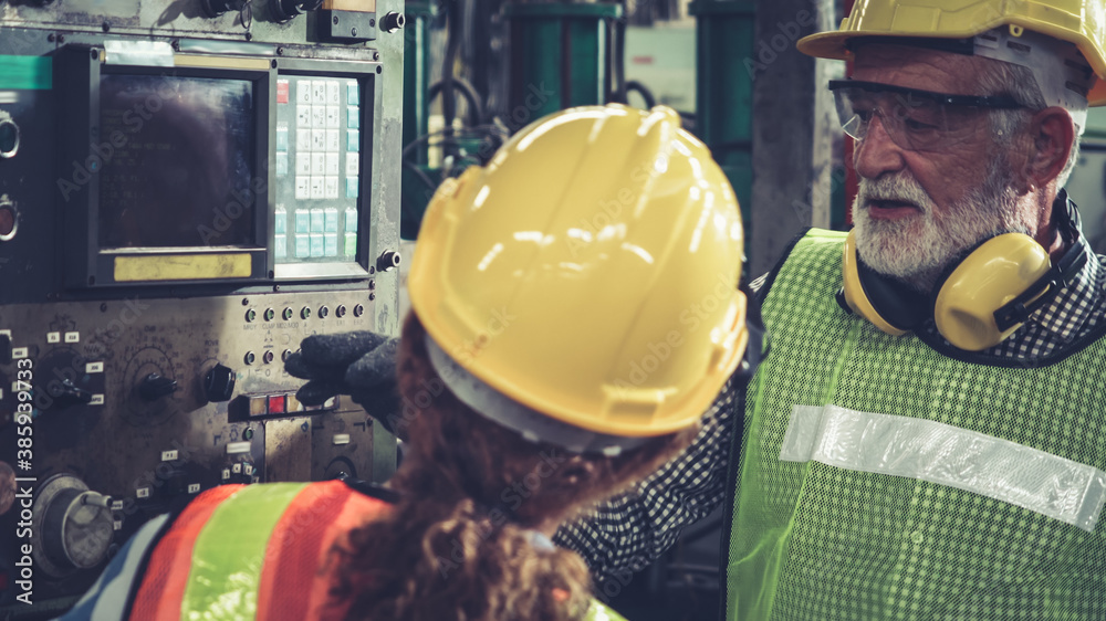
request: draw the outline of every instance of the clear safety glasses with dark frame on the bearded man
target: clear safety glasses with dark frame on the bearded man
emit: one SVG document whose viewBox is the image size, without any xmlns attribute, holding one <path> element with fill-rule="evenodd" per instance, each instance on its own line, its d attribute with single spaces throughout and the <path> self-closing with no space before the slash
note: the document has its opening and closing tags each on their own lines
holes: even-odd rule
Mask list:
<svg viewBox="0 0 1106 621">
<path fill-rule="evenodd" d="M 832 80 L 830 90 L 846 134 L 863 140 L 878 116 L 896 145 L 915 151 L 945 150 L 971 137 L 981 110 L 1023 107 L 1010 95 L 946 95 L 855 80 Z"/>
</svg>

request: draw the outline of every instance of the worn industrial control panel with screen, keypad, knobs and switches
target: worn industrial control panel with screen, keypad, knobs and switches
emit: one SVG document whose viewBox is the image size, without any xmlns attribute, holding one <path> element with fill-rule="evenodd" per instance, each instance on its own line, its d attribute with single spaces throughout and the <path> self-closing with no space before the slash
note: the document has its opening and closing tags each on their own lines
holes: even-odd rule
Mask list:
<svg viewBox="0 0 1106 621">
<path fill-rule="evenodd" d="M 385 481 L 312 334 L 397 334 L 399 0 L 0 1 L 0 618 L 227 483 Z"/>
</svg>

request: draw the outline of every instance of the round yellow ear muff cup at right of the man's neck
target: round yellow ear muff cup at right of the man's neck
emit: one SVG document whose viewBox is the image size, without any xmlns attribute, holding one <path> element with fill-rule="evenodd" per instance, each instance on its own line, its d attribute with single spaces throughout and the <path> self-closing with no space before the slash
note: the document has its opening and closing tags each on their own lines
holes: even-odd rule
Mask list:
<svg viewBox="0 0 1106 621">
<path fill-rule="evenodd" d="M 1000 310 L 1021 297 L 1025 299 L 1018 301 L 1018 305 L 1035 308 L 1033 303 L 1054 286 L 1045 278 L 1051 269 L 1048 253 L 1029 235 L 1004 233 L 991 238 L 939 283 L 933 302 L 938 331 L 967 351 L 1002 343 L 1027 314 L 999 325 Z"/>
</svg>

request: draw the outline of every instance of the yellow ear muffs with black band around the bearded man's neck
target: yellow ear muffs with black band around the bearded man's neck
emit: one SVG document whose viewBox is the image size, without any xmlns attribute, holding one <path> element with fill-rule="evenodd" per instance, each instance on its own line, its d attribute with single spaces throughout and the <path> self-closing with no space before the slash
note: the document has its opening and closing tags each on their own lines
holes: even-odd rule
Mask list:
<svg viewBox="0 0 1106 621">
<path fill-rule="evenodd" d="M 993 347 L 1070 286 L 1089 259 L 1078 210 L 1066 192 L 1057 197 L 1061 202 L 1063 221 L 1057 224 L 1070 248 L 1055 265 L 1032 238 L 1004 233 L 980 244 L 939 281 L 931 304 L 865 265 L 849 232 L 837 302 L 894 336 L 915 329 L 927 318 L 918 309 L 929 308 L 938 331 L 954 347 L 967 351 Z"/>
</svg>

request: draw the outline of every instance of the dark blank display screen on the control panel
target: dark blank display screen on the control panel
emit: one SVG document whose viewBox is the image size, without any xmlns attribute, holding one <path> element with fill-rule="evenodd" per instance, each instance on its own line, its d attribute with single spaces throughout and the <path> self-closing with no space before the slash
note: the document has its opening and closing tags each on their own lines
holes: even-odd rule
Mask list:
<svg viewBox="0 0 1106 621">
<path fill-rule="evenodd" d="M 102 249 L 253 244 L 251 82 L 105 75 L 100 105 Z"/>
</svg>

